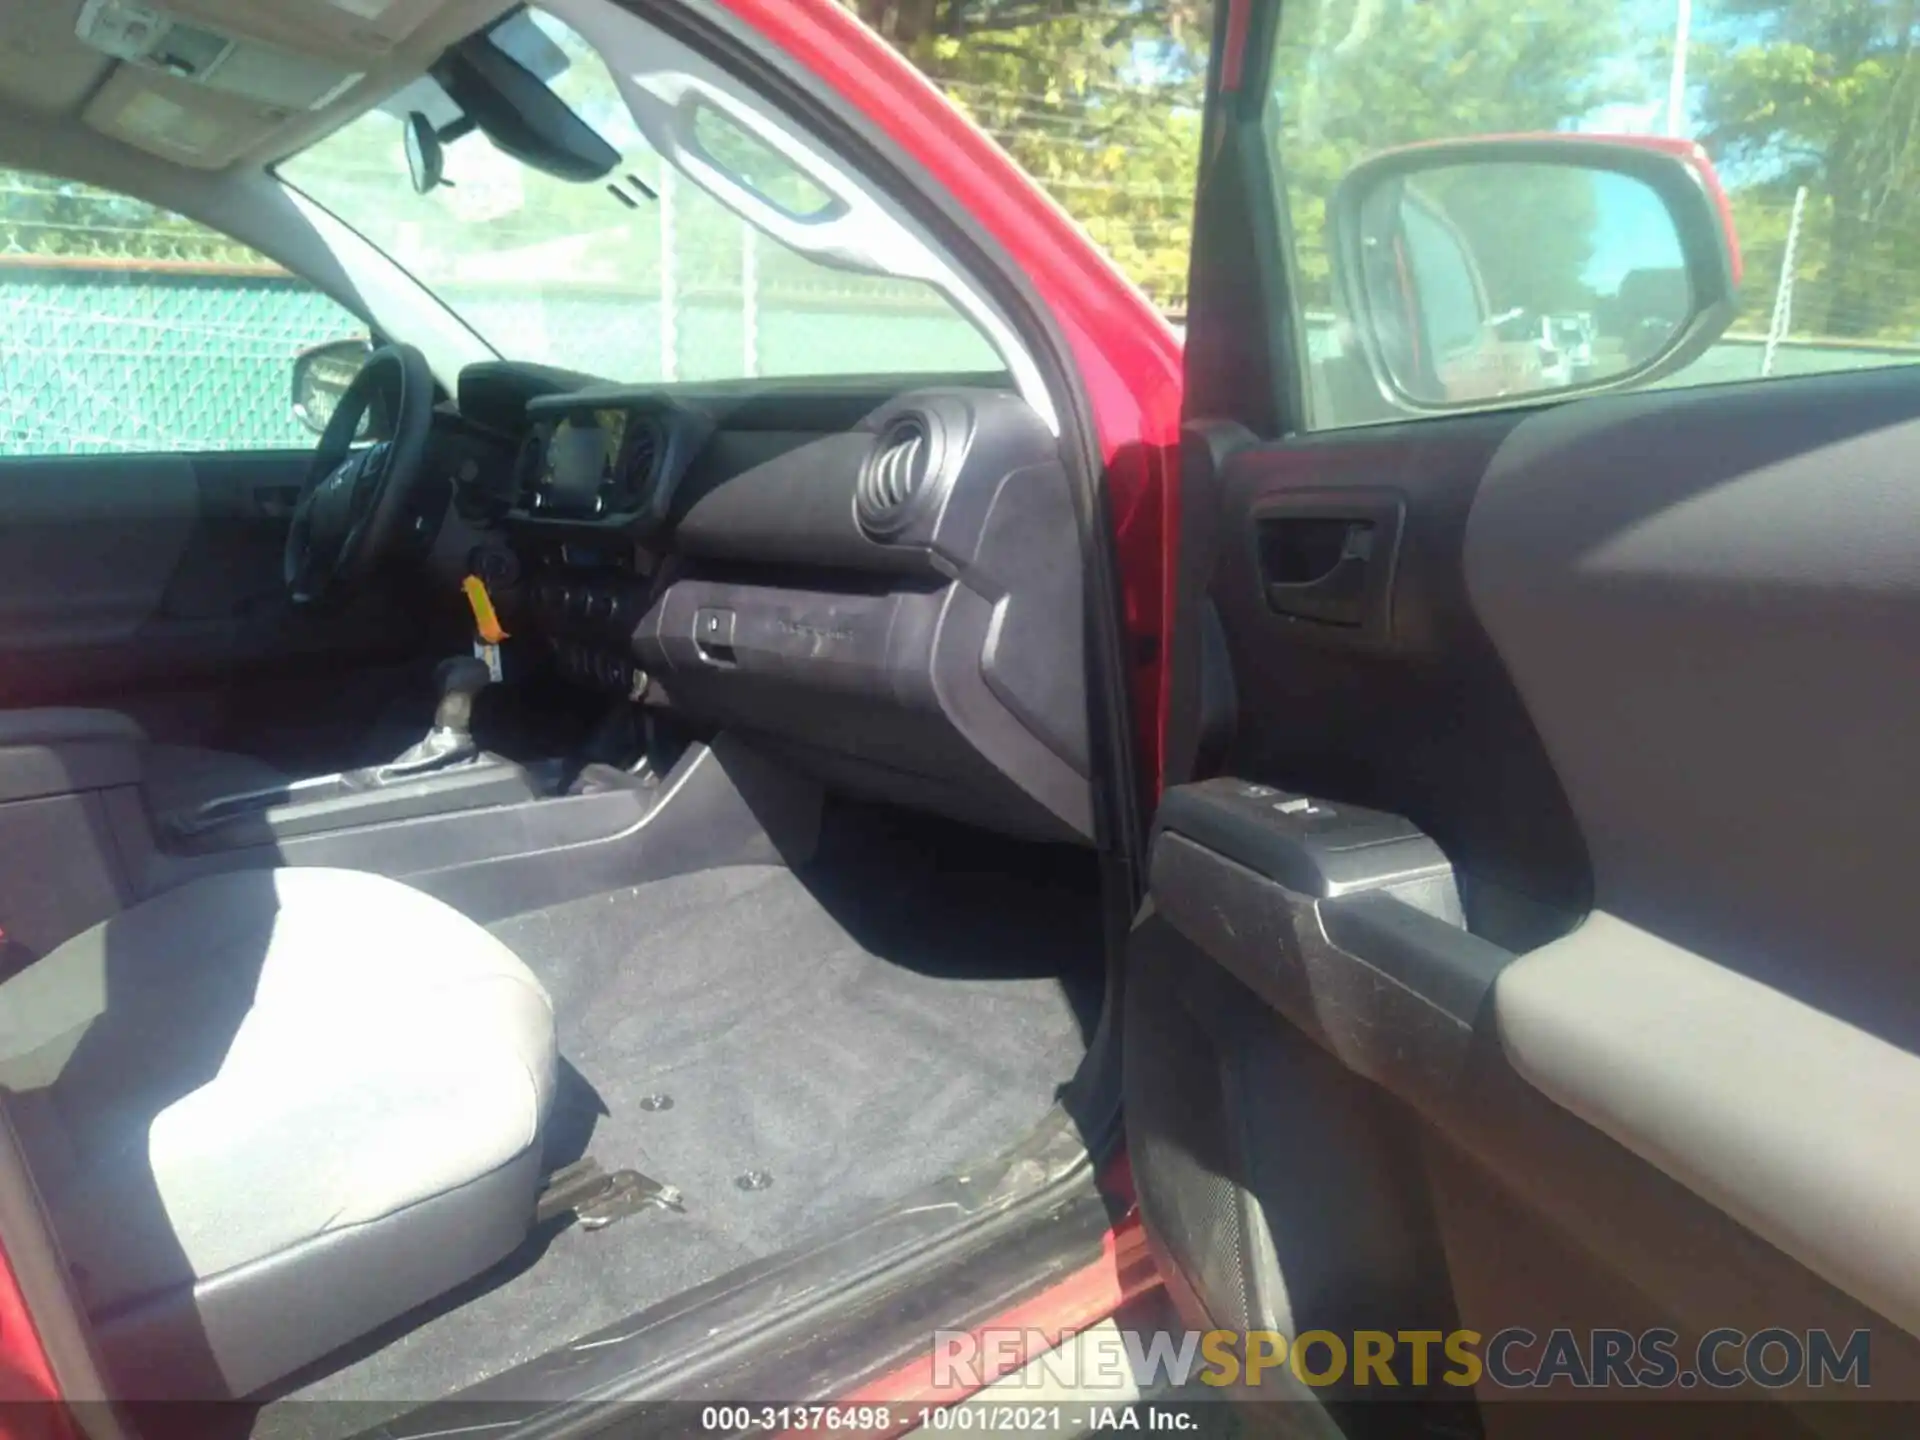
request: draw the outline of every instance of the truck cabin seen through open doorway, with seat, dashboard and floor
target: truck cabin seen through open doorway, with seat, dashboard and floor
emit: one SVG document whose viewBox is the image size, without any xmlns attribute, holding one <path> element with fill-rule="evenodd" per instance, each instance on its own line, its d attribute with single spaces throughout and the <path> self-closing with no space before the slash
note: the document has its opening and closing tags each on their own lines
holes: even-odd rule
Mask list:
<svg viewBox="0 0 1920 1440">
<path fill-rule="evenodd" d="M 361 10 L 0 10 L 0 161 L 411 321 L 300 357 L 307 453 L 0 459 L 6 1133 L 111 1392 L 263 1434 L 563 1394 L 1116 1133 L 1112 624 L 1010 328 L 616 6 Z M 328 211 L 486 163 L 618 217 L 641 144 L 977 365 L 636 384 Z"/>
</svg>

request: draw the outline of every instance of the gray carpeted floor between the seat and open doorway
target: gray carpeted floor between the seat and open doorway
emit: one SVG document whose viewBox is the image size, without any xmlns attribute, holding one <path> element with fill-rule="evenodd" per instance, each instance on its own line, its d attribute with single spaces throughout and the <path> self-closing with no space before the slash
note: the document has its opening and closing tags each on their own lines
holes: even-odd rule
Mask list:
<svg viewBox="0 0 1920 1440">
<path fill-rule="evenodd" d="M 536 1236 L 296 1398 L 444 1396 L 996 1154 L 1056 1100 L 1098 1018 L 1083 889 L 887 835 L 806 879 L 710 870 L 493 931 L 559 1020 L 549 1164 L 639 1169 L 685 1213 Z"/>
</svg>

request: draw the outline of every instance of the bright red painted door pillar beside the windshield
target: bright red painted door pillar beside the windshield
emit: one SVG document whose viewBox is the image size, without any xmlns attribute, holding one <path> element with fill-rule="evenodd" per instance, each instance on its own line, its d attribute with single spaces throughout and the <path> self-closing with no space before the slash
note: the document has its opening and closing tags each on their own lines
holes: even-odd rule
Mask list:
<svg viewBox="0 0 1920 1440">
<path fill-rule="evenodd" d="M 1073 349 L 1106 461 L 1140 770 L 1160 791 L 1181 342 L 1000 146 L 837 0 L 720 0 L 900 146 L 1025 273 Z"/>
</svg>

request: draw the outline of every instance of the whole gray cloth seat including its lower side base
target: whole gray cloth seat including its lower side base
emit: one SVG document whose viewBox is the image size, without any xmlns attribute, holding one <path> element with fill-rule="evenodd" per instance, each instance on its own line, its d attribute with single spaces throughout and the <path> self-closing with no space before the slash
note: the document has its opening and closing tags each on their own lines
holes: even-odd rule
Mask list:
<svg viewBox="0 0 1920 1440">
<path fill-rule="evenodd" d="M 0 985 L 0 1094 L 131 1396 L 250 1394 L 532 1227 L 553 1008 L 440 900 L 211 876 Z"/>
</svg>

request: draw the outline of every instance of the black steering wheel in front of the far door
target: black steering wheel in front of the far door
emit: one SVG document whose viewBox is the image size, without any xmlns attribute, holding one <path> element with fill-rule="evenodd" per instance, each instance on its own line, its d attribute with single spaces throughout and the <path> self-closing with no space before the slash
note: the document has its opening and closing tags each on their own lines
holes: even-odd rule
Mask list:
<svg viewBox="0 0 1920 1440">
<path fill-rule="evenodd" d="M 394 432 L 353 445 L 378 397 Z M 426 461 L 434 422 L 434 372 L 413 346 L 384 346 L 367 357 L 321 432 L 313 467 L 286 530 L 286 595 L 319 605 L 363 580 L 401 538 Z"/>
</svg>

